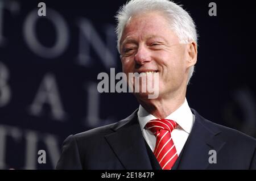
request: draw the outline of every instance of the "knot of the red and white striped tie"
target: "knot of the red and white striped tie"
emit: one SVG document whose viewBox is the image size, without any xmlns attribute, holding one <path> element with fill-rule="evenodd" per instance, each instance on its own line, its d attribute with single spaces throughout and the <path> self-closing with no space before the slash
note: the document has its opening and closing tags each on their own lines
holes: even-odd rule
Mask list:
<svg viewBox="0 0 256 181">
<path fill-rule="evenodd" d="M 176 126 L 177 123 L 170 119 L 153 119 L 148 121 L 146 124 L 146 127 L 150 129 L 150 131 L 154 134 L 156 134 L 156 132 L 160 131 L 161 129 L 165 129 L 171 133 Z"/>
</svg>

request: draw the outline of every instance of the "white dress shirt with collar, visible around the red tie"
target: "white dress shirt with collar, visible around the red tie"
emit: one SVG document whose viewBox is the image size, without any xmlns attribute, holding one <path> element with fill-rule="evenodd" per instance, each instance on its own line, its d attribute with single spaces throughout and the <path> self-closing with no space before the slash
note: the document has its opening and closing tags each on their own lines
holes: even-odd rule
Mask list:
<svg viewBox="0 0 256 181">
<path fill-rule="evenodd" d="M 151 113 L 148 113 L 140 105 L 138 111 L 139 125 L 141 126 L 144 139 L 147 141 L 147 144 L 150 146 L 151 150 L 154 151 L 156 137 L 149 129 L 145 128 L 147 122 L 152 119 L 157 118 L 151 115 Z M 171 136 L 177 150 L 177 155 L 179 155 L 195 122 L 195 116 L 188 106 L 187 99 L 185 99 L 184 103 L 176 111 L 165 117 L 165 119 L 174 120 L 177 123 L 177 127 L 171 132 Z"/>
</svg>

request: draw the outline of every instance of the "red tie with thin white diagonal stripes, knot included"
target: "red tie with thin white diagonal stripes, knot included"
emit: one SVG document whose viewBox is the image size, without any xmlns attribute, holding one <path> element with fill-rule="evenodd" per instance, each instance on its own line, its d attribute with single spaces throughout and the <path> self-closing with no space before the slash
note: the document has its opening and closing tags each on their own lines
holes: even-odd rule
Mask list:
<svg viewBox="0 0 256 181">
<path fill-rule="evenodd" d="M 177 151 L 171 132 L 177 123 L 168 119 L 154 119 L 148 121 L 148 128 L 156 136 L 154 155 L 163 170 L 170 170 L 177 159 Z"/>
</svg>

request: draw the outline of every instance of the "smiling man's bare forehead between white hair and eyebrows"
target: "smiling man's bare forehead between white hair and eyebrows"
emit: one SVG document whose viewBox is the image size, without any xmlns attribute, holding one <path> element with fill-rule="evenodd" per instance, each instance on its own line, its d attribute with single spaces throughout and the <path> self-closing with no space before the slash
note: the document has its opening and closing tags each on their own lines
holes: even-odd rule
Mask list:
<svg viewBox="0 0 256 181">
<path fill-rule="evenodd" d="M 125 39 L 166 37 L 174 34 L 170 22 L 160 12 L 144 12 L 132 16 L 123 29 L 120 43 Z"/>
</svg>

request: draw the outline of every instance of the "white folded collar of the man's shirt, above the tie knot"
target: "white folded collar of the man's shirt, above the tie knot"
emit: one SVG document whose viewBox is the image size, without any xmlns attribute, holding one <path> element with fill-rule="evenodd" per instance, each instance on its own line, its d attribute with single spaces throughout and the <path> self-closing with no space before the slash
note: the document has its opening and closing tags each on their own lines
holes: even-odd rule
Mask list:
<svg viewBox="0 0 256 181">
<path fill-rule="evenodd" d="M 139 105 L 138 120 L 139 125 L 141 126 L 141 130 L 143 130 L 147 122 L 152 119 L 157 118 L 151 113 L 148 113 L 141 105 Z M 190 133 L 193 127 L 194 119 L 193 113 L 191 112 L 188 106 L 187 99 L 185 99 L 184 103 L 179 108 L 177 108 L 176 111 L 168 115 L 166 119 L 176 121 L 176 123 L 181 127 L 181 129 L 183 129 L 187 133 Z"/>
</svg>

